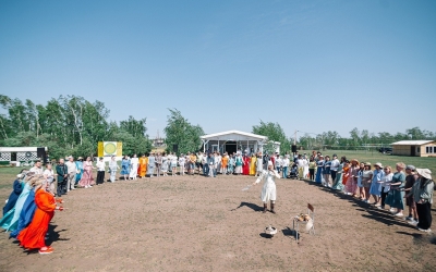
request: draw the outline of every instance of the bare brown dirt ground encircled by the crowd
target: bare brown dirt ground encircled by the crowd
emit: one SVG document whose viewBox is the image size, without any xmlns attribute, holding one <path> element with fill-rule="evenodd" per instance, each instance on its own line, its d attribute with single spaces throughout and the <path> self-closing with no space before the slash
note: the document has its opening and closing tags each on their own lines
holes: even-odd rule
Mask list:
<svg viewBox="0 0 436 272">
<path fill-rule="evenodd" d="M 55 252 L 25 252 L 3 232 L 0 271 L 434 271 L 434 234 L 305 181 L 279 180 L 277 214 L 264 214 L 262 185 L 242 191 L 253 181 L 185 175 L 76 189 L 51 222 Z M 296 244 L 291 217 L 307 202 L 316 235 Z"/>
</svg>

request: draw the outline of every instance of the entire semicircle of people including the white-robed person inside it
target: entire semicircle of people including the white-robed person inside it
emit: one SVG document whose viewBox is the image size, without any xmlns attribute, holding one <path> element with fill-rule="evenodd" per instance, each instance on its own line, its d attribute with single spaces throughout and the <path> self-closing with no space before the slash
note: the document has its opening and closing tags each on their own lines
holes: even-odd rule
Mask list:
<svg viewBox="0 0 436 272">
<path fill-rule="evenodd" d="M 66 162 L 65 162 L 66 161 Z M 97 170 L 96 182 L 93 170 Z M 38 249 L 39 254 L 51 254 L 53 249 L 46 246 L 48 225 L 55 210 L 63 210 L 60 203 L 62 195 L 76 187 L 92 188 L 104 184 L 106 172 L 109 182 L 119 180 L 137 180 L 175 175 L 204 175 L 216 177 L 221 175 L 256 176 L 258 184 L 265 180 L 262 191 L 264 212 L 270 201 L 272 213 L 276 213 L 276 178 L 300 178 L 313 181 L 335 190 L 371 203 L 378 209 L 389 206 L 392 215 L 403 218 L 404 206 L 409 215 L 404 219 L 423 232 L 431 232 L 434 182 L 428 169 L 416 169 L 399 162 L 395 171 L 382 163 L 359 162 L 356 159 L 338 159 L 337 154 L 323 156 L 313 151 L 306 153 L 252 153 L 238 150 L 234 153 L 187 152 L 177 157 L 175 153 L 152 152 L 140 158 L 124 156 L 119 163 L 112 157 L 107 165 L 104 158 L 93 163 L 92 158 L 83 160 L 78 157 L 60 159 L 53 169 L 51 163 L 43 168 L 40 161 L 29 170 L 23 170 L 13 183 L 13 190 L 3 207 L 3 218 L 0 226 L 10 236 L 16 238 L 26 249 Z M 59 206 L 58 206 L 59 205 Z"/>
</svg>

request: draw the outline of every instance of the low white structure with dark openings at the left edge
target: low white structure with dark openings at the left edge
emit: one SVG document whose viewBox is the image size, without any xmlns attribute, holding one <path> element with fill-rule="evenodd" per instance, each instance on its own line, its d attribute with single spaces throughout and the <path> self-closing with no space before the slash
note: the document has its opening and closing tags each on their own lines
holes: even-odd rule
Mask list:
<svg viewBox="0 0 436 272">
<path fill-rule="evenodd" d="M 47 147 L 0 147 L 0 164 L 36 161 L 46 153 Z"/>
</svg>

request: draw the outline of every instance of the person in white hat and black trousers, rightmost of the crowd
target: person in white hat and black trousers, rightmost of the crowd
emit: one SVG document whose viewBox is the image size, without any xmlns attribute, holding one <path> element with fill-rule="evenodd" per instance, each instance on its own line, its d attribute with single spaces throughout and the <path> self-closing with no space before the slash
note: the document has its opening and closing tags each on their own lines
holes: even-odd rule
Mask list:
<svg viewBox="0 0 436 272">
<path fill-rule="evenodd" d="M 432 171 L 428 169 L 416 169 L 417 180 L 412 187 L 413 200 L 416 203 L 417 218 L 416 227 L 422 232 L 432 232 L 432 203 L 435 184 L 432 180 Z M 412 224 L 410 222 L 410 224 Z"/>
</svg>

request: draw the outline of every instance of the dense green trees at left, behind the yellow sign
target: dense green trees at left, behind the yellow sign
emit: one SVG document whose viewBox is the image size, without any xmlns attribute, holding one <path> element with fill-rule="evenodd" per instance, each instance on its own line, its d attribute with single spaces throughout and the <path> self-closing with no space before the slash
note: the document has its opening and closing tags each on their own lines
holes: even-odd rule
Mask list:
<svg viewBox="0 0 436 272">
<path fill-rule="evenodd" d="M 123 152 L 152 150 L 146 119 L 110 122 L 109 109 L 100 101 L 78 96 L 60 96 L 47 104 L 35 104 L 0 95 L 0 145 L 48 147 L 52 159 L 66 154 L 95 156 L 98 141 L 122 141 Z"/>
</svg>

